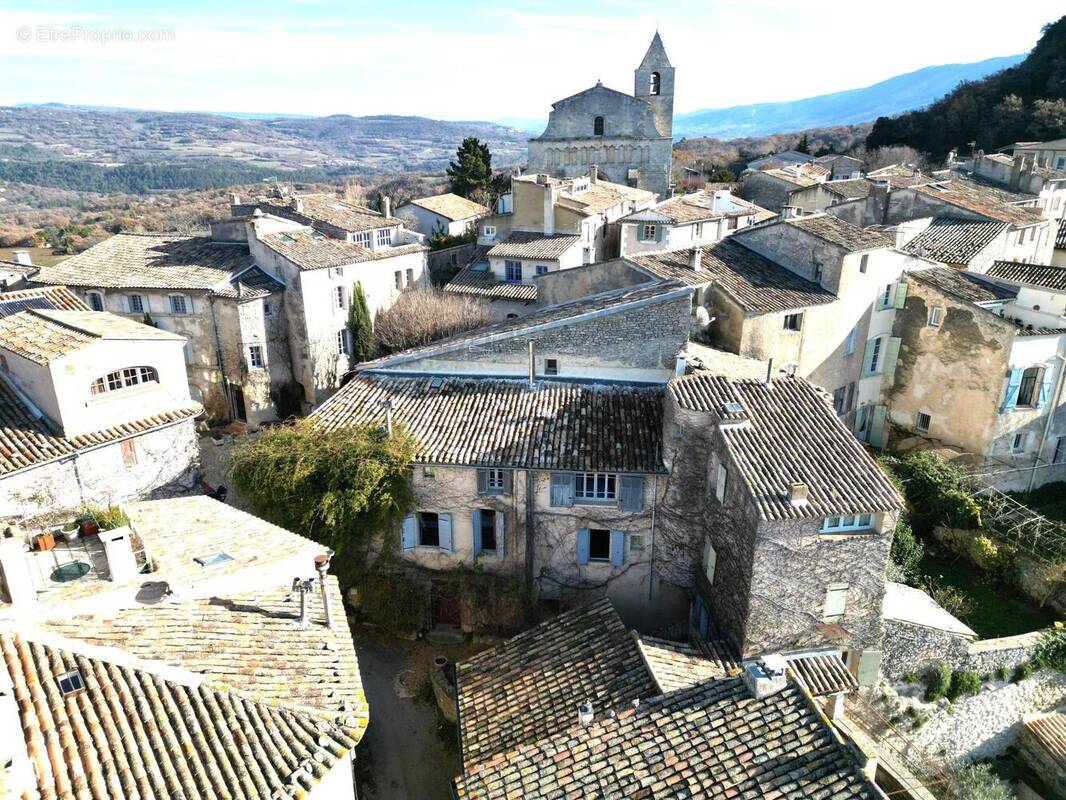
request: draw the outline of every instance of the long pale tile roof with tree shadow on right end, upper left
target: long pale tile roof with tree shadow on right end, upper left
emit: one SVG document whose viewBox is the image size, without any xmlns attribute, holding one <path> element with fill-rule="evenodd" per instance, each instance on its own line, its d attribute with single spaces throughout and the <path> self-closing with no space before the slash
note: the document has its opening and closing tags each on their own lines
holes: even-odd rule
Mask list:
<svg viewBox="0 0 1066 800">
<path fill-rule="evenodd" d="M 208 236 L 117 234 L 33 278 L 106 289 L 195 289 L 235 297 L 229 281 L 253 263 L 242 244 L 220 244 Z"/>
</svg>

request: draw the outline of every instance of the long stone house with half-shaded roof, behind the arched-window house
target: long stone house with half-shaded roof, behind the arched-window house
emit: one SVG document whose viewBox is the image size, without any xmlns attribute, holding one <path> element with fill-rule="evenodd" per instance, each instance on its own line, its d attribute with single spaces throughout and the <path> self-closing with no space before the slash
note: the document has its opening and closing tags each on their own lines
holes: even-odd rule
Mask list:
<svg viewBox="0 0 1066 800">
<path fill-rule="evenodd" d="M 246 243 L 118 234 L 33 281 L 184 337 L 189 390 L 209 417 L 278 418 L 275 398 L 292 383 L 285 285 L 256 267 Z"/>
</svg>

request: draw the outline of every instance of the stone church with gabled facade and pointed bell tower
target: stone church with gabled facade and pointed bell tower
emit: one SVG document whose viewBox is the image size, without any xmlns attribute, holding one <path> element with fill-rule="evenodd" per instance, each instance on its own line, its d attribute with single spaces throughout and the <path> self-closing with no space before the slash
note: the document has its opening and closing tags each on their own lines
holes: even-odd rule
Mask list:
<svg viewBox="0 0 1066 800">
<path fill-rule="evenodd" d="M 529 143 L 529 171 L 600 176 L 671 196 L 674 67 L 659 32 L 634 71 L 632 96 L 597 82 L 551 107 L 548 127 Z"/>
</svg>

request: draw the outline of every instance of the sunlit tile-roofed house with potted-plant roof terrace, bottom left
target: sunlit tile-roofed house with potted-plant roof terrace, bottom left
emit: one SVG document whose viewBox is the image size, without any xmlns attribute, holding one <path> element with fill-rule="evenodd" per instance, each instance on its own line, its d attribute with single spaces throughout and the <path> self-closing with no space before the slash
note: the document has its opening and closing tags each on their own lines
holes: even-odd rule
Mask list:
<svg viewBox="0 0 1066 800">
<path fill-rule="evenodd" d="M 354 800 L 367 700 L 321 545 L 204 496 L 124 511 L 55 551 L 0 540 L 0 785 Z M 48 578 L 63 547 L 78 580 Z"/>
</svg>

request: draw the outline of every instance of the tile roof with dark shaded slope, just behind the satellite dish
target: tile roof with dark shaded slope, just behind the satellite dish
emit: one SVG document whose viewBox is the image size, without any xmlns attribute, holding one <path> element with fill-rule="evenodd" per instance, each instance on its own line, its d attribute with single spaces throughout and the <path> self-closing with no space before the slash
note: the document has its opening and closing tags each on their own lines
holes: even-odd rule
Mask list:
<svg viewBox="0 0 1066 800">
<path fill-rule="evenodd" d="M 652 253 L 628 260 L 660 277 L 689 285 L 714 283 L 742 307 L 757 313 L 788 311 L 836 300 L 833 292 L 748 250 L 736 235 L 702 247 L 700 269 L 689 268 L 690 250 Z"/>
</svg>

